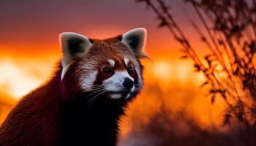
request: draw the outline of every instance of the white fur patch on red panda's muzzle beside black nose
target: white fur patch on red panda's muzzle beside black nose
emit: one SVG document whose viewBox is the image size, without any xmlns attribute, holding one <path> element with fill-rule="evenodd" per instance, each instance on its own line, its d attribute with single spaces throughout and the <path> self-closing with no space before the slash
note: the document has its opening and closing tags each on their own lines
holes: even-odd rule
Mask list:
<svg viewBox="0 0 256 146">
<path fill-rule="evenodd" d="M 127 71 L 117 71 L 113 74 L 112 77 L 102 82 L 102 85 L 105 85 L 105 89 L 107 91 L 122 91 L 124 90 L 123 82 L 124 79 L 128 77 L 130 80 L 134 81 L 134 79 L 129 76 Z"/>
</svg>

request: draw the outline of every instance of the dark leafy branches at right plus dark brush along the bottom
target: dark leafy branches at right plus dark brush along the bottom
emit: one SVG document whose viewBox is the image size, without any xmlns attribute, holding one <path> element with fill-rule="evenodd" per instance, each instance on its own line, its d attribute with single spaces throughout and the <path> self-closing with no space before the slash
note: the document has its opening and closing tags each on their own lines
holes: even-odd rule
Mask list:
<svg viewBox="0 0 256 146">
<path fill-rule="evenodd" d="M 255 0 L 184 0 L 200 21 L 187 20 L 206 45 L 201 57 L 192 41 L 163 0 L 137 0 L 151 8 L 159 19 L 159 28 L 167 28 L 183 47 L 181 58 L 190 58 L 195 72 L 202 72 L 209 87 L 211 103 L 221 97 L 227 110 L 223 126 L 229 131 L 205 131 L 186 121 L 189 133 L 177 135 L 167 112 L 159 112 L 138 137 L 154 137 L 156 145 L 256 145 L 256 1 Z M 186 12 L 184 12 L 186 14 Z M 201 27 L 203 26 L 203 27 Z M 156 141 L 152 141 L 156 142 Z"/>
</svg>

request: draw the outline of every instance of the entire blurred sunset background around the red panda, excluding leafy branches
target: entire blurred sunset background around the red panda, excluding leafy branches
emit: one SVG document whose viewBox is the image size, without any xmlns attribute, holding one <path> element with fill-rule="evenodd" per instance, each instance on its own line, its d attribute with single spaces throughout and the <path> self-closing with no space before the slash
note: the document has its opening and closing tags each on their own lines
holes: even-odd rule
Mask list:
<svg viewBox="0 0 256 146">
<path fill-rule="evenodd" d="M 183 46 L 165 25 L 157 27 L 150 6 L 138 2 L 146 1 L 1 0 L 0 123 L 22 96 L 48 80 L 61 58 L 61 32 L 105 39 L 144 27 L 152 61 L 142 61 L 145 86 L 122 118 L 119 145 L 240 145 L 232 143 L 236 132 L 230 138 L 223 126 L 225 100 L 217 96 L 213 103 L 211 88 L 200 88 L 204 74 L 194 72 L 191 59 L 181 59 Z M 180 0 L 167 5 L 197 55 L 205 54 L 207 46 L 187 18 L 200 21 L 195 9 Z"/>
</svg>

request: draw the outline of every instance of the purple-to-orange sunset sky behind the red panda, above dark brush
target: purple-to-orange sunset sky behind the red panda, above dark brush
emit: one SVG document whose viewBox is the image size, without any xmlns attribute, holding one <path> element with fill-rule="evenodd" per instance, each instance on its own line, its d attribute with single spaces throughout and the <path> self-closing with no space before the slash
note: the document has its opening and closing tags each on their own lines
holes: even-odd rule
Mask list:
<svg viewBox="0 0 256 146">
<path fill-rule="evenodd" d="M 204 46 L 184 15 L 186 10 L 194 18 L 192 9 L 181 4 L 180 0 L 171 0 L 170 6 L 178 23 L 195 42 L 197 51 L 203 53 Z M 189 114 L 202 123 L 210 124 L 219 118 L 222 102 L 217 101 L 217 104 L 210 106 L 206 92 L 199 89 L 203 82 L 202 75 L 192 72 L 191 61 L 180 59 L 181 46 L 166 28 L 157 28 L 158 23 L 154 12 L 134 0 L 1 0 L 0 99 L 18 101 L 50 77 L 54 64 L 61 58 L 61 32 L 74 31 L 86 37 L 105 39 L 132 28 L 144 27 L 148 31 L 146 51 L 152 61 L 143 61 L 146 66 L 145 90 L 131 105 L 128 115 L 143 104 L 157 108 L 153 99 L 143 99 L 148 96 L 147 85 L 155 84 L 163 91 L 171 91 L 172 94 L 167 96 L 170 107 L 178 109 L 185 101 L 191 100 L 189 108 L 192 112 Z M 193 91 L 194 96 L 184 94 L 187 91 Z M 176 104 L 173 106 L 171 103 Z M 140 109 L 141 118 L 154 111 L 152 109 L 146 106 Z M 124 133 L 129 131 L 129 117 L 127 119 Z"/>
</svg>

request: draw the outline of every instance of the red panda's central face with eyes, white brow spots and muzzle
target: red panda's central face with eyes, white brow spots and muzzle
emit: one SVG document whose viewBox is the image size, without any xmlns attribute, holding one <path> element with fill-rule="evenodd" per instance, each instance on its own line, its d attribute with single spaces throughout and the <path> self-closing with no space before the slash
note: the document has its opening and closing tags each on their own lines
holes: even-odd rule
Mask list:
<svg viewBox="0 0 256 146">
<path fill-rule="evenodd" d="M 140 91 L 143 85 L 138 62 L 129 58 L 108 58 L 98 70 L 95 87 L 102 87 L 110 98 L 129 98 Z M 97 88 L 96 88 L 97 90 Z M 102 91 L 102 92 L 103 92 Z"/>
</svg>

